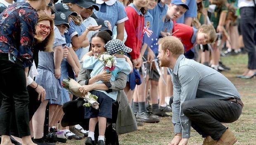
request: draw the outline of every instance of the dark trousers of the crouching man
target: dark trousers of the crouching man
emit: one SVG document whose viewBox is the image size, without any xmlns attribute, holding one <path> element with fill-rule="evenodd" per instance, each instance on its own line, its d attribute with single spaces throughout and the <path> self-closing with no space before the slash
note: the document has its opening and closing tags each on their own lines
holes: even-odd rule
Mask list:
<svg viewBox="0 0 256 145">
<path fill-rule="evenodd" d="M 242 113 L 242 105 L 232 101 L 200 98 L 185 101 L 181 110 L 190 119 L 193 129 L 203 138 L 211 136 L 218 140 L 227 130 L 220 122 L 235 122 Z"/>
</svg>

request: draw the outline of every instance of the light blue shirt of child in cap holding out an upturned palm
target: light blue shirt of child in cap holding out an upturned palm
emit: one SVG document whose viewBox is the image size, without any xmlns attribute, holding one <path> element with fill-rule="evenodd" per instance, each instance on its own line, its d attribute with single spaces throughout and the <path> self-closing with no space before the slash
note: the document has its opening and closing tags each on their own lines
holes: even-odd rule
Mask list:
<svg viewBox="0 0 256 145">
<path fill-rule="evenodd" d="M 83 32 L 86 30 L 86 27 L 81 24 L 81 25 L 76 25 L 75 22 L 73 20 L 70 21 L 69 23 L 69 37 L 70 39 L 72 39 L 72 37 L 74 37 L 75 35 L 82 35 Z M 83 50 L 83 47 L 80 47 L 78 48 L 75 52 L 76 52 L 76 55 L 78 56 L 78 59 L 81 60 L 81 58 L 83 57 L 81 54 L 82 54 L 82 50 Z"/>
</svg>

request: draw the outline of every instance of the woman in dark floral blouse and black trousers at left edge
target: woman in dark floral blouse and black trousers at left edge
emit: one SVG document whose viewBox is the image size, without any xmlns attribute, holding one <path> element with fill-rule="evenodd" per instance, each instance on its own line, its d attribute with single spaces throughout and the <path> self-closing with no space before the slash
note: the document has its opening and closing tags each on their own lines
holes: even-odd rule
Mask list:
<svg viewBox="0 0 256 145">
<path fill-rule="evenodd" d="M 9 137 L 12 117 L 16 118 L 17 131 L 23 144 L 35 145 L 29 131 L 26 80 L 35 51 L 37 10 L 45 9 L 49 2 L 27 0 L 10 5 L 0 14 L 0 96 L 3 98 L 0 108 L 1 145 L 12 145 Z"/>
</svg>

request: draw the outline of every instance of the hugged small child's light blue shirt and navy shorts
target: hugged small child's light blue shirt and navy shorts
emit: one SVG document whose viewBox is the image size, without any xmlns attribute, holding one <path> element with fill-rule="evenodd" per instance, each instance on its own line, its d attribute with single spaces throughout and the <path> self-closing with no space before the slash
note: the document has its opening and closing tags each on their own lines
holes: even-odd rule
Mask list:
<svg viewBox="0 0 256 145">
<path fill-rule="evenodd" d="M 128 62 L 126 62 L 125 58 L 116 58 L 116 68 L 111 73 L 110 82 L 113 82 L 116 80 L 117 73 L 118 72 L 124 72 L 126 75 L 128 75 L 131 71 L 131 67 Z M 83 63 L 84 69 L 92 70 L 90 73 L 90 77 L 94 77 L 95 75 L 99 74 L 104 70 L 104 65 L 102 62 L 95 58 L 94 56 L 85 56 L 84 63 Z M 98 82 L 95 82 L 95 84 L 103 82 L 100 80 Z M 93 90 L 90 91 L 91 94 L 96 95 L 98 97 L 98 103 L 100 112 L 97 112 L 97 110 L 92 110 L 92 108 L 85 108 L 85 118 L 94 118 L 97 116 L 111 118 L 112 117 L 112 103 L 116 101 L 117 97 L 117 91 L 102 91 L 102 90 Z"/>
</svg>

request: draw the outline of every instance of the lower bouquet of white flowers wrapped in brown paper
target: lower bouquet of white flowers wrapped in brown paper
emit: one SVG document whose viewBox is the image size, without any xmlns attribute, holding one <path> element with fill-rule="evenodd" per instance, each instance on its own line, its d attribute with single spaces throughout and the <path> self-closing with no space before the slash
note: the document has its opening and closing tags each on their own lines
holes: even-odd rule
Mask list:
<svg viewBox="0 0 256 145">
<path fill-rule="evenodd" d="M 86 102 L 88 102 L 88 103 L 83 104 L 83 106 L 85 106 L 85 107 L 92 106 L 92 108 L 95 108 L 95 109 L 99 108 L 100 103 L 98 103 L 98 101 L 97 101 L 98 97 L 90 94 L 90 92 L 87 92 L 85 95 L 83 93 L 81 93 L 79 91 L 81 84 L 76 82 L 76 80 L 73 80 L 71 78 L 64 79 L 62 81 L 62 86 L 65 89 L 69 90 L 71 93 L 73 93 L 75 96 L 77 96 L 79 98 L 83 98 Z"/>
</svg>

